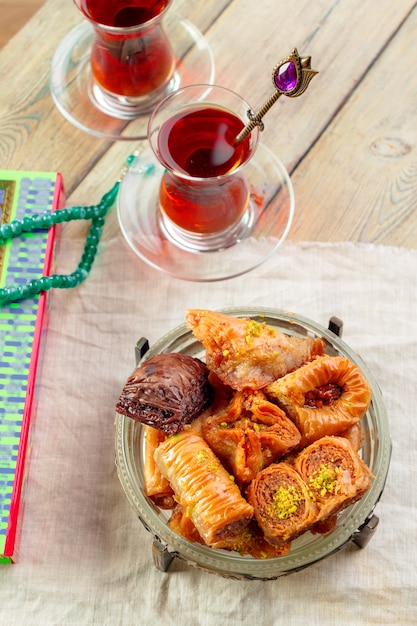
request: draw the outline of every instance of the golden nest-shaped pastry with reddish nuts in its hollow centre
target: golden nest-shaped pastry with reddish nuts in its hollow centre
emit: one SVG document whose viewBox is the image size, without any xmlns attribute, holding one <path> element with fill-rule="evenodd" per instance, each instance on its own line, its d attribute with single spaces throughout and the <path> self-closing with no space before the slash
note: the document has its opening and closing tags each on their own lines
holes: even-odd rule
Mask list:
<svg viewBox="0 0 417 626">
<path fill-rule="evenodd" d="M 330 399 L 315 390 L 333 385 Z M 335 387 L 339 393 L 335 393 Z M 312 393 L 313 392 L 313 393 Z M 301 433 L 300 447 L 338 435 L 364 416 L 371 400 L 367 380 L 357 365 L 344 357 L 321 356 L 268 385 L 266 396 L 294 421 Z"/>
</svg>

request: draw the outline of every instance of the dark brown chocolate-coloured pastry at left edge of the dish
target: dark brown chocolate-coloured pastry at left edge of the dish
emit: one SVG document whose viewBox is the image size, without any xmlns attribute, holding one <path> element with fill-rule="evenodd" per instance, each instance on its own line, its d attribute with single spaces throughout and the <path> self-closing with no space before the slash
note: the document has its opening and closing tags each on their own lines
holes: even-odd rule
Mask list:
<svg viewBox="0 0 417 626">
<path fill-rule="evenodd" d="M 211 397 L 202 361 L 179 353 L 156 354 L 128 378 L 116 410 L 173 435 L 196 419 Z"/>
</svg>

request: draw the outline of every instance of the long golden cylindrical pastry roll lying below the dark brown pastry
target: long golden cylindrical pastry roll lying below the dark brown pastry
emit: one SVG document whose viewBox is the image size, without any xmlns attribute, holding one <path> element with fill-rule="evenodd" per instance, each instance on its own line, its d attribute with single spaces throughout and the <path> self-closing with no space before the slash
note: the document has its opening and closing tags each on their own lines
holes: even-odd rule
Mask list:
<svg viewBox="0 0 417 626">
<path fill-rule="evenodd" d="M 154 458 L 208 546 L 249 524 L 252 506 L 198 432 L 187 429 L 168 437 Z"/>
</svg>

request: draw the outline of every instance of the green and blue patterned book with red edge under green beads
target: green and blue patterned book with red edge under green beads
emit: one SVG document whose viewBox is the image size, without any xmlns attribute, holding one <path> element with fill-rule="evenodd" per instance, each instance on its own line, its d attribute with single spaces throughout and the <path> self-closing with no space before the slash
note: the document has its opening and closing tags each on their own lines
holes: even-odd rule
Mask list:
<svg viewBox="0 0 417 626">
<path fill-rule="evenodd" d="M 60 174 L 0 170 L 0 224 L 53 211 L 63 201 Z M 54 243 L 52 228 L 0 246 L 0 287 L 48 275 Z M 41 293 L 0 308 L 0 563 L 16 560 L 47 305 Z"/>
</svg>

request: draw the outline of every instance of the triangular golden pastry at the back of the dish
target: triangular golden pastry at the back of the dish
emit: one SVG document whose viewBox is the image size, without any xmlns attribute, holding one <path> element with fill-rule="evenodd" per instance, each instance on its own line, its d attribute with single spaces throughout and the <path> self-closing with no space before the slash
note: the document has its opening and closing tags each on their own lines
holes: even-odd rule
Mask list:
<svg viewBox="0 0 417 626">
<path fill-rule="evenodd" d="M 261 389 L 324 352 L 321 339 L 290 337 L 249 318 L 198 309 L 187 311 L 186 324 L 208 368 L 232 389 Z"/>
</svg>

